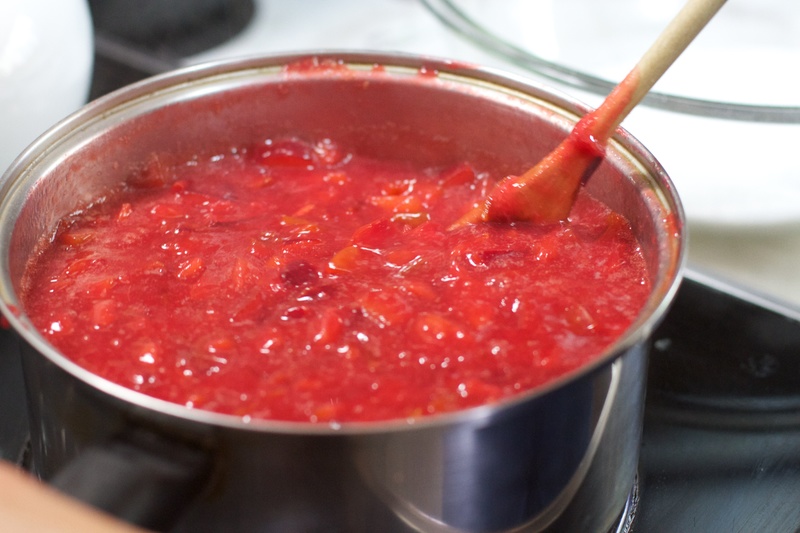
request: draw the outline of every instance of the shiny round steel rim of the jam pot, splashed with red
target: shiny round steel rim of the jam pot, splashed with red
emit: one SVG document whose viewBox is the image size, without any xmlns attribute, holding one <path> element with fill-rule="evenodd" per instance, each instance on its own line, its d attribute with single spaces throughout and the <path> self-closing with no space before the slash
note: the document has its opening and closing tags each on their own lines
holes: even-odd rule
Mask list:
<svg viewBox="0 0 800 533">
<path fill-rule="evenodd" d="M 455 62 L 448 59 L 416 54 L 388 54 L 370 51 L 300 51 L 288 54 L 267 54 L 237 59 L 199 63 L 142 80 L 108 95 L 98 98 L 44 132 L 22 152 L 0 178 L 0 226 L 13 225 L 16 214 L 24 203 L 25 191 L 30 187 L 29 175 L 43 171 L 38 165 L 48 154 L 57 152 L 62 144 L 79 135 L 89 125 L 108 121 L 124 115 L 129 109 L 148 107 L 154 97 L 183 95 L 187 92 L 203 94 L 204 90 L 219 90 L 219 87 L 235 87 L 237 81 L 280 72 L 287 64 L 307 60 L 333 60 L 354 70 L 371 70 L 380 66 L 394 75 L 418 74 L 420 70 L 434 73 L 432 77 L 451 82 L 489 87 L 493 91 L 510 95 L 523 95 L 534 99 L 536 105 L 558 111 L 569 120 L 586 113 L 589 107 L 563 92 L 496 68 Z M 315 73 L 316 74 L 316 73 Z M 303 75 L 303 74 L 301 74 Z M 322 75 L 337 75 L 322 73 Z M 199 93 L 198 93 L 199 91 Z M 156 99 L 160 101 L 160 99 Z M 3 253 L 0 271 L 0 312 L 22 338 L 50 362 L 77 378 L 89 388 L 107 394 L 116 400 L 137 408 L 154 411 L 168 417 L 194 421 L 212 426 L 242 429 L 255 432 L 279 432 L 307 435 L 358 435 L 406 431 L 417 428 L 440 427 L 464 422 L 480 423 L 511 406 L 532 401 L 548 392 L 561 388 L 566 383 L 579 379 L 610 365 L 627 349 L 643 343 L 649 337 L 678 290 L 685 266 L 686 233 L 683 231 L 685 215 L 672 181 L 656 158 L 630 133 L 620 128 L 609 143 L 641 167 L 648 179 L 657 184 L 653 187 L 660 204 L 674 218 L 674 231 L 669 236 L 667 252 L 670 264 L 668 271 L 654 279 L 654 285 L 645 307 L 626 332 L 592 362 L 568 372 L 558 379 L 501 401 L 454 412 L 426 415 L 416 419 L 389 419 L 370 422 L 291 422 L 268 419 L 248 419 L 202 409 L 193 409 L 166 400 L 137 392 L 124 385 L 102 378 L 72 362 L 39 335 L 36 328 L 22 313 L 21 304 L 9 274 L 9 249 L 12 231 L 0 235 L 0 253 Z M 26 179 L 27 178 L 27 179 Z M 14 200 L 17 200 L 16 212 Z M 662 253 L 663 255 L 663 253 Z"/>
</svg>

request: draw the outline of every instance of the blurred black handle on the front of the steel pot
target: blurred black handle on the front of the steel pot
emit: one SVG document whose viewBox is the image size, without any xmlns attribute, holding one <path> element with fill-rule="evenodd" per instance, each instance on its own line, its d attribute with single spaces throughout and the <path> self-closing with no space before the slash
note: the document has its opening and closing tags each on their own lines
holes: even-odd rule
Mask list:
<svg viewBox="0 0 800 533">
<path fill-rule="evenodd" d="M 128 523 L 168 531 L 210 472 L 207 450 L 134 429 L 81 451 L 49 483 Z"/>
</svg>

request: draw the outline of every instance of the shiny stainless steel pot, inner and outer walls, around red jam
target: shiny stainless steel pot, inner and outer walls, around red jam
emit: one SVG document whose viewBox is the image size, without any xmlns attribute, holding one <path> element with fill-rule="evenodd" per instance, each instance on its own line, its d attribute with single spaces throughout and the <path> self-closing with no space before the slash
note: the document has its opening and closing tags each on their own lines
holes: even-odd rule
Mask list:
<svg viewBox="0 0 800 533">
<path fill-rule="evenodd" d="M 631 221 L 652 276 L 650 299 L 595 363 L 497 405 L 414 422 L 333 426 L 192 410 L 77 367 L 35 332 L 17 299 L 27 258 L 56 221 L 154 156 L 169 161 L 187 150 L 294 135 L 329 137 L 360 153 L 425 165 L 469 160 L 502 175 L 535 163 L 584 111 L 493 71 L 412 56 L 331 53 L 170 73 L 57 125 L 18 158 L 0 189 L 0 289 L 4 312 L 25 341 L 34 470 L 51 479 L 76 458 L 139 432 L 200 457 L 181 481 L 198 484 L 194 503 L 162 509 L 174 518 L 165 529 L 613 529 L 636 476 L 646 341 L 677 289 L 684 250 L 672 185 L 625 132 L 588 187 Z M 185 457 L 166 447 L 178 463 Z"/>
</svg>

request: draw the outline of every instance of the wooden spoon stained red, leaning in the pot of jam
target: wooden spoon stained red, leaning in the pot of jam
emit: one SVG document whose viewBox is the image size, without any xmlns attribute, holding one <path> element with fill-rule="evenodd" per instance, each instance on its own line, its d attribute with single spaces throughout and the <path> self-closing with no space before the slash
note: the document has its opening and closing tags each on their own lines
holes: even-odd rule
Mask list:
<svg viewBox="0 0 800 533">
<path fill-rule="evenodd" d="M 570 135 L 536 166 L 521 176 L 508 176 L 456 221 L 453 228 L 474 222 L 564 220 L 583 183 L 605 155 L 608 139 L 658 79 L 683 53 L 725 0 L 688 0 L 639 63 Z"/>
</svg>

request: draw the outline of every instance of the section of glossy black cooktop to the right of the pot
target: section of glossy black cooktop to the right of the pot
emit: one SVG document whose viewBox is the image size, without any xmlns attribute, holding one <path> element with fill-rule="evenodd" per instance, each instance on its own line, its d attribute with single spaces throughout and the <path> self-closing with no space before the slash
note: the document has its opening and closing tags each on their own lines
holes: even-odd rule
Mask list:
<svg viewBox="0 0 800 533">
<path fill-rule="evenodd" d="M 653 338 L 635 531 L 800 531 L 800 310 L 689 273 Z"/>
</svg>

